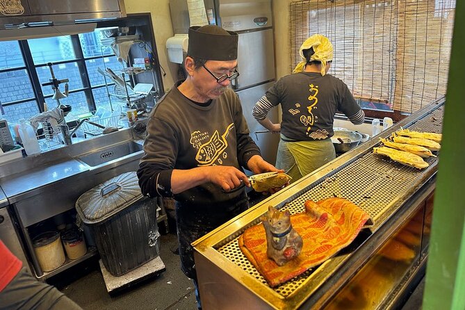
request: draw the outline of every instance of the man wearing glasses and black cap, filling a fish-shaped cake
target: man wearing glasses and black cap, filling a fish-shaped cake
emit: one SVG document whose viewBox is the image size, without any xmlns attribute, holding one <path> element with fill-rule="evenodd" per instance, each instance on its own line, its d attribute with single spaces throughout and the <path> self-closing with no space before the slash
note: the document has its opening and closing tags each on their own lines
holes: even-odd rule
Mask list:
<svg viewBox="0 0 465 310">
<path fill-rule="evenodd" d="M 282 171 L 263 161 L 238 96 L 228 87 L 239 76 L 237 46 L 237 33 L 211 25 L 189 28 L 187 79 L 150 114 L 138 170 L 142 193 L 177 201 L 181 268 L 196 293 L 190 243 L 248 208 L 250 181 L 243 168 Z M 197 302 L 200 308 L 198 294 Z"/>
</svg>

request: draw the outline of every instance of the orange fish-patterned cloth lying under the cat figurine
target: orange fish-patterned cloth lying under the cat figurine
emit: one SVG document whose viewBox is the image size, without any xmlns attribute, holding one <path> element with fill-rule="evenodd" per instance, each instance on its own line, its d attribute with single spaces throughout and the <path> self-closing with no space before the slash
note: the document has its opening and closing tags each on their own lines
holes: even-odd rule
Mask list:
<svg viewBox="0 0 465 310">
<path fill-rule="evenodd" d="M 302 237 L 302 252 L 283 266 L 266 254 L 266 233 L 263 224 L 245 229 L 239 237 L 240 250 L 265 277 L 271 287 L 317 266 L 349 245 L 359 234 L 369 215 L 343 198 L 328 198 L 318 203 L 305 202 L 305 213 L 291 215 L 294 229 Z"/>
</svg>

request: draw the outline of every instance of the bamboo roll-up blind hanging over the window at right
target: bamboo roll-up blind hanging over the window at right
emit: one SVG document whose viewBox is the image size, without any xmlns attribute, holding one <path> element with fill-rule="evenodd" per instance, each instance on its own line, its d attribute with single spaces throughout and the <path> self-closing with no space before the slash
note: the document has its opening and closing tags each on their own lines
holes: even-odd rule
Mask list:
<svg viewBox="0 0 465 310">
<path fill-rule="evenodd" d="M 446 94 L 455 0 L 307 0 L 290 4 L 291 68 L 310 35 L 331 40 L 330 74 L 354 97 L 413 113 Z"/>
</svg>

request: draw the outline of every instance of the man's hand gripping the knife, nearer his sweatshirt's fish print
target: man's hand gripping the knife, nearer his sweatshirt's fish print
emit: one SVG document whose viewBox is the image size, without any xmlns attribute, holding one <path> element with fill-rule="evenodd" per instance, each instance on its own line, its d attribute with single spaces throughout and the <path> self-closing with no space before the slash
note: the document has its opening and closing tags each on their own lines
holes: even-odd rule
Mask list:
<svg viewBox="0 0 465 310">
<path fill-rule="evenodd" d="M 204 169 L 206 169 L 207 179 L 211 183 L 221 186 L 226 192 L 240 186 L 241 181 L 246 186 L 250 186 L 247 176 L 237 168 L 218 165 L 205 167 Z"/>
</svg>

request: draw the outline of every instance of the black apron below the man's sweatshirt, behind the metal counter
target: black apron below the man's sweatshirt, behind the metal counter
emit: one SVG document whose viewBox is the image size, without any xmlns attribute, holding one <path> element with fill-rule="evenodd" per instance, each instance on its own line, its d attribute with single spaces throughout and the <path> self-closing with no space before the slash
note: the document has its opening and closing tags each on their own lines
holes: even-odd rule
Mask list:
<svg viewBox="0 0 465 310">
<path fill-rule="evenodd" d="M 195 205 L 176 202 L 176 223 L 181 269 L 197 281 L 194 251 L 191 243 L 249 208 L 247 194 L 220 204 Z"/>
</svg>

